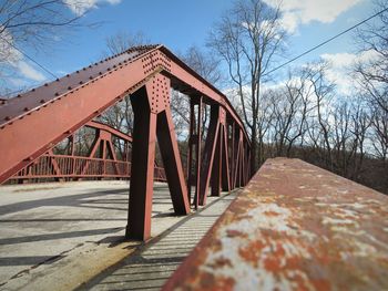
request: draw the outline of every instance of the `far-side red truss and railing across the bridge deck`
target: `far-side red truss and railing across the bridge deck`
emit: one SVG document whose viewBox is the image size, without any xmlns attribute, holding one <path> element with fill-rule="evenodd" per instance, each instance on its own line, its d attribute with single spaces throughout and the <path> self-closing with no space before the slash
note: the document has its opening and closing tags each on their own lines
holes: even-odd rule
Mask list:
<svg viewBox="0 0 388 291">
<path fill-rule="evenodd" d="M 88 156 L 75 156 L 71 142 L 70 155 L 54 154 L 52 149 L 35 159 L 31 165 L 18 172 L 9 180 L 22 183 L 24 180 L 47 179 L 80 179 L 80 178 L 120 178 L 131 177 L 131 163 L 127 156 L 119 160 L 112 144 L 112 136 L 121 138 L 125 143 L 132 143 L 129 136 L 106 124 L 95 121 L 85 124 L 86 127 L 98 129 L 93 146 Z M 99 147 L 105 147 L 111 158 L 106 155 L 95 157 Z M 166 181 L 164 168 L 154 166 L 154 180 Z"/>
</svg>

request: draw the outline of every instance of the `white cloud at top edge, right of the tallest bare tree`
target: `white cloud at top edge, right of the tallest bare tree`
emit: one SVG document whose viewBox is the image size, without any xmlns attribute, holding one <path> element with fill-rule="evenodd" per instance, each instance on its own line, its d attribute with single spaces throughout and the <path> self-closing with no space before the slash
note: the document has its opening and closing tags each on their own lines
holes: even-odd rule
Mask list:
<svg viewBox="0 0 388 291">
<path fill-rule="evenodd" d="M 297 31 L 299 24 L 312 21 L 330 23 L 343 12 L 364 0 L 284 0 L 280 10 L 284 13 L 282 24 L 290 33 Z M 278 0 L 264 0 L 270 7 L 277 7 Z"/>
</svg>

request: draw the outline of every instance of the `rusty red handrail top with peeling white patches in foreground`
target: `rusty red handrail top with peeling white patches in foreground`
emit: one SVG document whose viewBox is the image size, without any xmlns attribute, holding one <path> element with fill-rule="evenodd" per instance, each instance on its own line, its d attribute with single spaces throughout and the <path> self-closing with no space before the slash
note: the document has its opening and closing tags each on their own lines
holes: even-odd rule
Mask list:
<svg viewBox="0 0 388 291">
<path fill-rule="evenodd" d="M 388 290 L 388 197 L 269 159 L 164 290 Z"/>
</svg>

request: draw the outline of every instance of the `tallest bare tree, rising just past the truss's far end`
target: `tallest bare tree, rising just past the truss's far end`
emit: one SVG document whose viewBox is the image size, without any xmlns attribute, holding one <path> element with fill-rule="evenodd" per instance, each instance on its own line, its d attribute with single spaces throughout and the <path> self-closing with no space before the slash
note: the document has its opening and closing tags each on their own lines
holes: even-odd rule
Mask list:
<svg viewBox="0 0 388 291">
<path fill-rule="evenodd" d="M 216 23 L 208 39 L 208 45 L 226 63 L 232 85 L 237 87 L 252 139 L 252 173 L 258 166 L 257 145 L 264 144 L 259 131 L 261 87 L 285 39 L 279 19 L 279 9 L 273 9 L 262 0 L 237 0 Z"/>
</svg>

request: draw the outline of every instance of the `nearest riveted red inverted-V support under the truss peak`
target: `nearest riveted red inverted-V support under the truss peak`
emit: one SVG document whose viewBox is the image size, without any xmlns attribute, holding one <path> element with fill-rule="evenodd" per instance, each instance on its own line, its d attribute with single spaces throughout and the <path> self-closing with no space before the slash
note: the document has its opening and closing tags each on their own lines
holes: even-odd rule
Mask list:
<svg viewBox="0 0 388 291">
<path fill-rule="evenodd" d="M 187 187 L 170 110 L 170 80 L 156 75 L 131 96 L 134 113 L 129 220 L 125 236 L 151 237 L 156 137 L 177 215 L 190 212 Z"/>
</svg>

